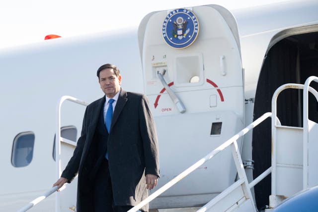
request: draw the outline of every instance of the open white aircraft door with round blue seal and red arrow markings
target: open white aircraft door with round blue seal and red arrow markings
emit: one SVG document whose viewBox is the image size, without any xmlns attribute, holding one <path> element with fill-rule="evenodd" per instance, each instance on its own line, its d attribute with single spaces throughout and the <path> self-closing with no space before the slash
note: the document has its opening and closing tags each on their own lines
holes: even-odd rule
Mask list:
<svg viewBox="0 0 318 212">
<path fill-rule="evenodd" d="M 239 34 L 228 10 L 205 5 L 150 13 L 138 35 L 159 137 L 159 188 L 243 128 Z M 150 206 L 202 205 L 230 186 L 236 174 L 228 148 Z"/>
</svg>

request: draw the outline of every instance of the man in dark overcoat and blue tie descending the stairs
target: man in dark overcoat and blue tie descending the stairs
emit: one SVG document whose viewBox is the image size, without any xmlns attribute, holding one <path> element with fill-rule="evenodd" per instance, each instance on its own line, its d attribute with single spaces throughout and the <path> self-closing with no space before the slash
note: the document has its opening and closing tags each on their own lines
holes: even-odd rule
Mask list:
<svg viewBox="0 0 318 212">
<path fill-rule="evenodd" d="M 115 65 L 102 65 L 97 77 L 105 96 L 86 107 L 73 157 L 53 186 L 78 172 L 77 212 L 126 212 L 158 182 L 155 123 L 147 97 L 121 89 Z"/>
</svg>

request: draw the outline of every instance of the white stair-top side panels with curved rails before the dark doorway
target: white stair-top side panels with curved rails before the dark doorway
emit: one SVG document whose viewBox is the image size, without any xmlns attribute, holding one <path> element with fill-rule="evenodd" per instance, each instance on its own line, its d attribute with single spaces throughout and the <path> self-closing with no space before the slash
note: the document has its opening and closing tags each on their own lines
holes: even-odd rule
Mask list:
<svg viewBox="0 0 318 212">
<path fill-rule="evenodd" d="M 303 89 L 303 126 L 282 126 L 272 119 L 272 188 L 270 208 L 275 208 L 297 192 L 318 185 L 318 124 L 308 118 L 308 95 L 311 92 L 317 102 L 318 93 L 309 87 L 315 76 L 305 85 L 286 84 L 279 87 L 272 99 L 272 116 L 276 116 L 276 99 L 285 89 Z"/>
</svg>

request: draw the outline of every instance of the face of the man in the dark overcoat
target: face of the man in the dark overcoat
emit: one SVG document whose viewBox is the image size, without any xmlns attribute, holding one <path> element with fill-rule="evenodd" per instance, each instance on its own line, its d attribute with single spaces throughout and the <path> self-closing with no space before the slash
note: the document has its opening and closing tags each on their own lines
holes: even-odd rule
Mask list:
<svg viewBox="0 0 318 212">
<path fill-rule="evenodd" d="M 108 98 L 113 98 L 120 90 L 121 75 L 115 75 L 112 68 L 106 68 L 99 72 L 99 85 Z"/>
</svg>

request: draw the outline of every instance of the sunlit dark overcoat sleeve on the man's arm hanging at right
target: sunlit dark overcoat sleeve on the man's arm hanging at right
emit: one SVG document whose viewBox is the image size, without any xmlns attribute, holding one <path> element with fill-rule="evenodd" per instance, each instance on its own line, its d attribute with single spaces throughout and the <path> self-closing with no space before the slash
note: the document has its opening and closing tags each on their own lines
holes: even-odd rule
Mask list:
<svg viewBox="0 0 318 212">
<path fill-rule="evenodd" d="M 154 174 L 159 177 L 159 147 L 156 126 L 145 95 L 140 102 L 139 119 L 145 155 L 145 174 Z"/>
</svg>

